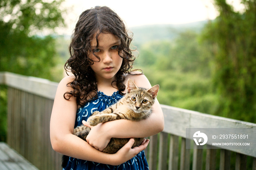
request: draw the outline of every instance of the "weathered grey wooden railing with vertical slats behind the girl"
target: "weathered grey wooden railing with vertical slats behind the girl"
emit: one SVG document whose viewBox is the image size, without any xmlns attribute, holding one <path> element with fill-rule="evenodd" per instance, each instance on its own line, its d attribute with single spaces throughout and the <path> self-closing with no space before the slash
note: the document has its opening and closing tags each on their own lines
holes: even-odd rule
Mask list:
<svg viewBox="0 0 256 170">
<path fill-rule="evenodd" d="M 61 155 L 52 150 L 49 122 L 57 83 L 45 79 L 0 73 L 0 84 L 8 87 L 7 143 L 42 170 L 61 169 Z M 165 128 L 150 136 L 146 149 L 151 170 L 256 170 L 256 124 L 161 105 Z M 245 149 L 206 144 L 200 149 L 186 139 L 186 128 L 240 128 L 251 138 Z M 193 149 L 186 149 L 186 140 Z"/>
</svg>

